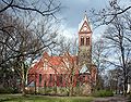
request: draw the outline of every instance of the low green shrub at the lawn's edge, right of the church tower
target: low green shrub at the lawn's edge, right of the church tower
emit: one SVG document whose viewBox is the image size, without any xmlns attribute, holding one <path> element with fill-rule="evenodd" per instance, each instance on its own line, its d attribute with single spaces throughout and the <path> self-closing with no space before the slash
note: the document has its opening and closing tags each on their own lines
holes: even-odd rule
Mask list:
<svg viewBox="0 0 131 102">
<path fill-rule="evenodd" d="M 93 93 L 94 97 L 112 97 L 112 91 L 109 90 L 98 90 Z"/>
</svg>

